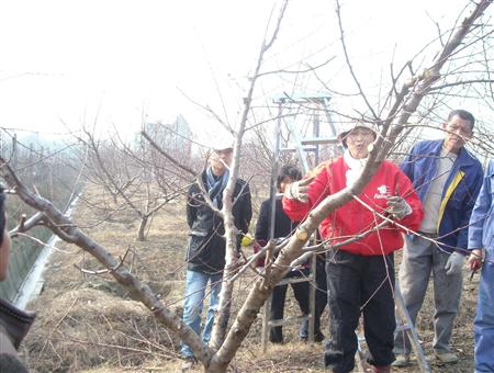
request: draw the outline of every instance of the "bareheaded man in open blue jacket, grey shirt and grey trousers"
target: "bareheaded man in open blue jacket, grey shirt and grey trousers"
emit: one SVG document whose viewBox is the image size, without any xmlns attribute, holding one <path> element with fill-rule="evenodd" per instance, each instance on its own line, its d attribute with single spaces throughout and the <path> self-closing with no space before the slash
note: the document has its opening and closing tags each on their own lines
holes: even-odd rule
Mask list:
<svg viewBox="0 0 494 373">
<path fill-rule="evenodd" d="M 445 138 L 417 143 L 401 168 L 413 181 L 424 207 L 419 236 L 408 235 L 400 267 L 405 306 L 415 324 L 424 302 L 430 273 L 434 280 L 435 313 L 433 348 L 439 363 L 456 363 L 449 340 L 460 307 L 461 269 L 469 251 L 468 231 L 473 205 L 482 185 L 482 166 L 465 148 L 475 120 L 454 110 L 442 125 Z M 411 344 L 397 331 L 395 366 L 409 361 Z"/>
</svg>

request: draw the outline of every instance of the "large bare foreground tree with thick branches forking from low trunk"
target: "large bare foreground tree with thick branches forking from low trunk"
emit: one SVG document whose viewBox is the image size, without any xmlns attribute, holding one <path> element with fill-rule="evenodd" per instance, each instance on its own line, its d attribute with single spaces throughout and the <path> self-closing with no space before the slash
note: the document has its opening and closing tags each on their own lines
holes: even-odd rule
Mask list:
<svg viewBox="0 0 494 373">
<path fill-rule="evenodd" d="M 384 104 L 381 108 L 374 104 L 368 94 L 366 94 L 364 88 L 360 83 L 356 69 L 349 58 L 344 35 L 343 15 L 340 12 L 339 2 L 336 2 L 338 20 L 340 22 L 339 29 L 341 32 L 340 39 L 344 55 L 346 56 L 350 77 L 355 81 L 358 95 L 364 103 L 366 111 L 351 113 L 335 112 L 335 114 L 343 115 L 349 121 L 363 120 L 366 122 L 374 123 L 380 128 L 379 136 L 373 144 L 373 148 L 369 155 L 369 161 L 367 162 L 361 177 L 352 185 L 345 188 L 313 208 L 307 218 L 297 227 L 294 235 L 288 241 L 282 244 L 281 251 L 276 261 L 269 262 L 263 272 L 256 272 L 256 281 L 251 284 L 250 291 L 243 303 L 242 308 L 233 318 L 232 326 L 228 329 L 233 285 L 238 275 L 251 268 L 250 264 L 254 260 L 254 257 L 250 257 L 247 262 L 242 263 L 242 265 L 237 262 L 237 233 L 234 227 L 232 215 L 233 188 L 238 177 L 240 148 L 245 139 L 246 129 L 248 128 L 247 123 L 252 102 L 252 93 L 255 91 L 257 80 L 267 75 L 267 72 L 261 71 L 262 63 L 266 53 L 273 45 L 280 31 L 288 1 L 283 3 L 276 22 L 274 31 L 270 34 L 270 36 L 266 36 L 266 39 L 260 48 L 257 65 L 250 79 L 248 94 L 244 100 L 245 106 L 240 121 L 234 129 L 231 128 L 235 136 L 234 160 L 231 167 L 231 179 L 228 180 L 228 184 L 224 192 L 223 208 L 222 211 L 216 211 L 216 213 L 220 214 L 225 222 L 225 239 L 227 248 L 226 265 L 223 276 L 224 283 L 221 292 L 218 307 L 220 312 L 216 315 L 211 346 L 204 344 L 200 337 L 195 335 L 187 325 L 184 325 L 181 319 L 150 291 L 149 286 L 142 283 L 133 273 L 131 273 L 131 271 L 126 268 L 124 260 L 115 259 L 102 245 L 86 235 L 74 224 L 70 218 L 65 216 L 49 201 L 29 190 L 5 159 L 1 159 L 3 163 L 3 177 L 12 189 L 15 189 L 18 196 L 24 201 L 24 203 L 40 212 L 32 218 L 32 222 L 45 225 L 67 242 L 77 245 L 97 258 L 98 261 L 105 268 L 108 273 L 111 274 L 126 290 L 128 290 L 135 298 L 139 299 L 153 313 L 160 324 L 162 324 L 170 331 L 175 332 L 183 342 L 191 347 L 194 355 L 204 365 L 204 370 L 206 372 L 225 372 L 234 359 L 235 353 L 248 335 L 252 323 L 257 318 L 260 307 L 270 295 L 273 286 L 280 281 L 287 271 L 290 270 L 291 265 L 293 265 L 295 261 L 302 260 L 306 253 L 319 252 L 324 250 L 321 247 L 305 248 L 311 235 L 332 211 L 340 207 L 349 201 L 358 201 L 358 195 L 372 178 L 381 161 L 389 157 L 390 151 L 395 148 L 397 142 L 401 142 L 404 134 L 408 134 L 409 128 L 416 127 L 411 126 L 409 120 L 412 115 L 414 115 L 414 113 L 416 113 L 419 109 L 423 113 L 430 113 L 433 111 L 431 108 L 436 108 L 439 104 L 439 99 L 436 99 L 436 95 L 440 97 L 439 92 L 445 89 L 450 89 L 450 87 L 453 86 L 464 86 L 465 83 L 473 86 L 479 82 L 473 80 L 469 80 L 468 82 L 462 80 L 457 82 L 448 82 L 448 79 L 451 79 L 451 69 L 453 69 L 454 64 L 458 63 L 454 58 L 458 57 L 461 52 L 469 54 L 468 50 L 470 50 L 470 47 L 475 47 L 476 45 L 482 44 L 485 37 L 490 35 L 485 24 L 481 23 L 481 16 L 491 2 L 492 1 L 481 0 L 476 4 L 472 4 L 472 12 L 461 20 L 458 25 L 451 29 L 448 33 L 448 38 L 444 41 L 440 50 L 438 50 L 433 61 L 424 69 L 417 71 L 411 68 L 412 65 L 408 64 L 398 70 L 397 74 L 393 71 L 391 89 L 383 100 Z M 409 67 L 409 69 L 407 69 L 407 67 Z M 315 74 L 314 70 L 310 71 Z M 489 78 L 482 78 L 480 80 L 480 83 L 482 84 L 490 84 L 492 82 Z M 431 104 L 428 103 L 426 106 L 420 106 L 426 98 L 427 100 L 430 100 Z M 158 149 L 159 146 L 155 146 L 155 148 Z M 96 147 L 96 149 L 98 149 L 98 147 Z M 166 151 L 160 152 L 166 155 Z M 186 170 L 189 173 L 194 172 L 188 168 L 182 168 L 182 170 Z M 119 188 L 121 189 L 121 185 L 122 184 L 116 182 L 112 184 L 114 190 L 119 190 Z M 122 197 L 124 197 L 124 193 L 119 193 Z M 372 227 L 371 230 L 379 229 L 389 223 L 389 219 L 385 216 L 380 217 L 383 221 L 382 224 Z M 22 227 L 19 227 L 18 230 L 27 230 L 31 226 L 32 224 L 27 224 L 26 222 Z M 352 237 L 349 239 L 356 240 L 359 239 L 359 237 Z M 268 250 L 268 247 L 263 248 L 263 252 L 266 252 L 266 250 Z"/>
</svg>

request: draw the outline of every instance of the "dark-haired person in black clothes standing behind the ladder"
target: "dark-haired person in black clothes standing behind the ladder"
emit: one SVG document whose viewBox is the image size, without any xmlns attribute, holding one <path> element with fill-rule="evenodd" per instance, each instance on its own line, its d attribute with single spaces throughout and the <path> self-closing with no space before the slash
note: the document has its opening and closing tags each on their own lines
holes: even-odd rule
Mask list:
<svg viewBox="0 0 494 373">
<path fill-rule="evenodd" d="M 302 174 L 296 167 L 287 165 L 281 167 L 280 173 L 277 178 L 278 193 L 284 193 L 285 187 L 293 181 L 300 180 Z M 285 238 L 292 235 L 297 223 L 290 221 L 287 214 L 283 212 L 281 205 L 281 197 L 277 195 L 274 206 L 274 239 Z M 269 240 L 271 227 L 271 199 L 267 199 L 262 202 L 259 211 L 259 218 L 256 224 L 256 240 L 260 246 L 265 246 Z M 324 268 L 323 268 L 324 269 Z M 303 265 L 302 268 L 294 268 L 287 273 L 284 279 L 308 276 L 310 268 Z M 325 280 L 325 279 L 324 279 Z M 310 315 L 308 295 L 310 283 L 308 281 L 296 282 L 290 284 L 295 299 L 299 303 L 300 309 L 304 316 Z M 283 319 L 284 301 L 287 296 L 288 285 L 274 286 L 271 297 L 270 319 L 279 320 Z M 321 313 L 324 310 L 326 304 L 325 286 L 323 290 L 316 291 L 316 309 L 314 319 L 314 340 L 321 342 L 324 339 L 324 335 L 321 332 Z M 302 323 L 299 334 L 301 340 L 307 340 L 308 338 L 308 319 L 305 318 Z M 269 334 L 269 340 L 273 343 L 283 342 L 283 329 L 282 326 L 271 327 Z"/>
</svg>

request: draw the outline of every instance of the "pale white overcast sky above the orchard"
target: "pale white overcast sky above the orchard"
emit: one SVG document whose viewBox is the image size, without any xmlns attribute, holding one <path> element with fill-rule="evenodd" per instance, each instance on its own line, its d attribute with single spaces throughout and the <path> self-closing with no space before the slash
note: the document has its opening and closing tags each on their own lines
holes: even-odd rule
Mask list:
<svg viewBox="0 0 494 373">
<path fill-rule="evenodd" d="M 340 0 L 349 53 L 377 89 L 395 55 L 411 58 L 468 1 Z M 213 125 L 203 106 L 235 125 L 274 0 L 44 0 L 0 3 L 0 127 L 59 134 L 81 126 L 120 133 L 182 114 L 198 137 Z M 272 14 L 273 13 L 273 14 Z M 272 15 L 271 15 L 272 14 Z M 271 27 L 268 27 L 271 19 Z M 291 0 L 263 71 L 341 59 L 335 1 Z M 396 57 L 397 56 L 397 57 Z M 338 81 L 343 61 L 326 70 Z M 263 78 L 256 100 L 319 89 L 310 75 Z"/>
</svg>

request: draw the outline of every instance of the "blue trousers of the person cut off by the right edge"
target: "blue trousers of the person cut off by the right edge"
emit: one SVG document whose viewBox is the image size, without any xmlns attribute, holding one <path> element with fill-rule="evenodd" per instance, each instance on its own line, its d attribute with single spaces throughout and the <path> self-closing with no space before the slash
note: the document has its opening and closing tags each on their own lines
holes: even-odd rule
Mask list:
<svg viewBox="0 0 494 373">
<path fill-rule="evenodd" d="M 482 268 L 473 321 L 475 373 L 494 372 L 494 256 L 490 253 Z"/>
</svg>

